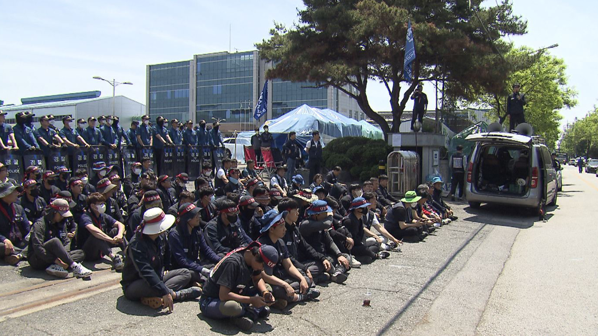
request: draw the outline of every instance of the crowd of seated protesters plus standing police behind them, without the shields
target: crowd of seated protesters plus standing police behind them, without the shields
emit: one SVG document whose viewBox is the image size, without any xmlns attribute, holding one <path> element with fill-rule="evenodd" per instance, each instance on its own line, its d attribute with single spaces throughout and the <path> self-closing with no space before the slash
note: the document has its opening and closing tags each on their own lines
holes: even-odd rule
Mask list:
<svg viewBox="0 0 598 336">
<path fill-rule="evenodd" d="M 56 132 L 52 116 L 40 118 L 37 130 L 28 120 L 17 115 L 13 130 L 0 114 L 2 148 L 149 145 L 159 171 L 165 145 L 223 145 L 218 124 L 206 130 L 203 121 L 194 129 L 192 121 L 172 120 L 167 128 L 158 117 L 152 127 L 144 116 L 124 132 L 112 116 L 80 119 L 77 127 L 65 117 Z M 264 129 L 254 147 L 272 141 Z M 441 197 L 440 178 L 400 199 L 389 193 L 386 175 L 343 184 L 340 167 L 322 172 L 319 133 L 306 146 L 295 136 L 283 148 L 287 164 L 266 178 L 252 160 L 240 171 L 224 158 L 215 173 L 204 163 L 194 181 L 184 171 L 157 175 L 142 160 L 126 174 L 95 162 L 91 176 L 85 169 L 29 166 L 17 182 L 0 163 L 0 257 L 56 277 L 90 277 L 81 262 L 109 262 L 122 272 L 129 300 L 172 311 L 176 301 L 199 298 L 206 317 L 248 330 L 270 307 L 313 300 L 320 285 L 345 282 L 350 268 L 388 258 L 403 242 L 419 242 L 456 219 Z M 294 171 L 302 152 L 307 181 Z"/>
</svg>

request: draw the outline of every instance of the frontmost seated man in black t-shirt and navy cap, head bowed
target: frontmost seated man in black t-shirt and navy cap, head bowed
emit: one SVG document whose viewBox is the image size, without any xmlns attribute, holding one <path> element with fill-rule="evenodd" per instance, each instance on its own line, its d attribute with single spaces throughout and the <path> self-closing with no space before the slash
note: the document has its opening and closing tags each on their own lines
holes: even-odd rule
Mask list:
<svg viewBox="0 0 598 336">
<path fill-rule="evenodd" d="M 263 275 L 271 276 L 278 262 L 276 249 L 251 243 L 228 253 L 214 267 L 199 299 L 202 314 L 210 319 L 230 319 L 248 331 L 257 319 L 269 316 L 274 297 Z"/>
</svg>

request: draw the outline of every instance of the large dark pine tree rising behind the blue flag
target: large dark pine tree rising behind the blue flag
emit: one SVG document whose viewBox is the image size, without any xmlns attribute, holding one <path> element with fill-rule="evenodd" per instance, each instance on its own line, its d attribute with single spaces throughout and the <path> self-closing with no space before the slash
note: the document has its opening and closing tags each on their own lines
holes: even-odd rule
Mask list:
<svg viewBox="0 0 598 336">
<path fill-rule="evenodd" d="M 353 97 L 388 136 L 398 132 L 401 115 L 420 81 L 441 79 L 446 94 L 471 98 L 496 92 L 511 71 L 501 53 L 502 37 L 522 34 L 527 23 L 512 13 L 511 1 L 481 7 L 472 0 L 304 0 L 300 23 L 276 24 L 271 37 L 256 44 L 275 65 L 269 78 L 311 81 Z M 478 13 L 478 17 L 475 13 Z M 414 81 L 405 83 L 403 60 L 407 20 L 411 20 L 417 59 Z M 384 83 L 393 121 L 373 110 L 368 81 Z"/>
</svg>

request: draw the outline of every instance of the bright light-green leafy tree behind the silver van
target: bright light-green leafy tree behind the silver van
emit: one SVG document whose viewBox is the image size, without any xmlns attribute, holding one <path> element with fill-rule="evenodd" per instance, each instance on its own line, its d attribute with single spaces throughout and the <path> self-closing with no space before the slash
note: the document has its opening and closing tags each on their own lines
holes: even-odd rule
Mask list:
<svg viewBox="0 0 598 336">
<path fill-rule="evenodd" d="M 515 71 L 499 93 L 483 94 L 477 103 L 490 106 L 490 115 L 497 120 L 507 113 L 506 100 L 512 84 L 521 83 L 521 92 L 527 100 L 526 121 L 532 125 L 535 134 L 554 149 L 559 139 L 559 122 L 563 118 L 559 111 L 577 104 L 577 92 L 568 86 L 565 61 L 547 52 L 536 53 L 528 47 L 512 50 L 505 57 L 514 64 Z"/>
</svg>

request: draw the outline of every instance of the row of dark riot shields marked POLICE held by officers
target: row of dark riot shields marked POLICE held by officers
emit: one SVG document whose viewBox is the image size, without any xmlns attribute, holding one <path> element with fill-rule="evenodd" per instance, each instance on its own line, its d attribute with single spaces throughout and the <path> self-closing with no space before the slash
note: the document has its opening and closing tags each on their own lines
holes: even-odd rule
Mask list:
<svg viewBox="0 0 598 336">
<path fill-rule="evenodd" d="M 192 179 L 201 175 L 202 164 L 209 163 L 216 168 L 221 166 L 225 151 L 222 147 L 212 146 L 187 146 L 172 145 L 163 149 L 161 172 L 174 176 L 186 172 Z M 144 158 L 151 160 L 150 167 L 155 171 L 154 148 L 143 146 L 123 146 L 122 148 L 109 148 L 108 146 L 90 146 L 89 148 L 68 148 L 54 147 L 46 151 L 25 151 L 25 154 L 17 154 L 13 151 L 0 152 L 0 162 L 8 168 L 8 176 L 21 181 L 23 173 L 29 166 L 42 167 L 45 170 L 56 171 L 58 167 L 67 167 L 73 172 L 77 169 L 86 169 L 91 176 L 90 169 L 96 162 L 103 161 L 107 166 L 117 166 L 123 177 L 131 175 L 131 167 L 135 162 L 141 162 Z M 215 160 L 212 160 L 214 158 Z"/>
</svg>

